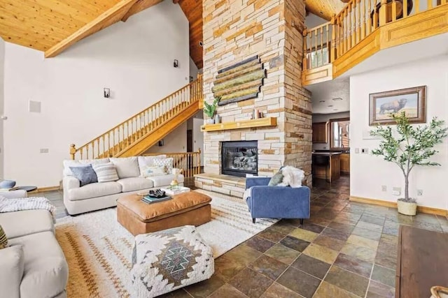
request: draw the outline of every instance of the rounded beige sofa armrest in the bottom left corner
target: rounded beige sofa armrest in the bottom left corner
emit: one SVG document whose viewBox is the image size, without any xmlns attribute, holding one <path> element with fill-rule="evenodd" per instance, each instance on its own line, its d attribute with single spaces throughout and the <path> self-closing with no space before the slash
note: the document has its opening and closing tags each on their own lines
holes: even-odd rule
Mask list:
<svg viewBox="0 0 448 298">
<path fill-rule="evenodd" d="M 0 251 L 0 289 L 3 295 L 6 295 L 4 297 L 20 298 L 24 263 L 23 249 L 20 245 Z"/>
</svg>

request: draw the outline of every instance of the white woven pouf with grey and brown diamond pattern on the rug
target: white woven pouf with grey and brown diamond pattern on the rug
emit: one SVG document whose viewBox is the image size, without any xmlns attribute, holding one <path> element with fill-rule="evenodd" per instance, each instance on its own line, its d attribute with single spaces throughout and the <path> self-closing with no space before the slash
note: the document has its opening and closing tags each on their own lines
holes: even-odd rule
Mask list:
<svg viewBox="0 0 448 298">
<path fill-rule="evenodd" d="M 139 234 L 132 251 L 133 297 L 154 297 L 204 281 L 214 273 L 211 247 L 193 225 Z"/>
</svg>

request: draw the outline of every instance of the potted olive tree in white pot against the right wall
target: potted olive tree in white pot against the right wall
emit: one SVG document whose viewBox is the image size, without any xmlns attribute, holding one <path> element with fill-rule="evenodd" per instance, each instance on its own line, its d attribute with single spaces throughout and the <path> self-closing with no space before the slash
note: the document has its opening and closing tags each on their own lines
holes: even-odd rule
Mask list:
<svg viewBox="0 0 448 298">
<path fill-rule="evenodd" d="M 405 177 L 405 198 L 398 199 L 398 212 L 415 215 L 416 200 L 409 198 L 409 173 L 416 165 L 440 165 L 429 161 L 429 158 L 437 154 L 434 146 L 447 137 L 448 128 L 444 128 L 444 121 L 437 117 L 426 126 L 412 126 L 405 112 L 394 114 L 393 119 L 396 122 L 396 135 L 391 126 L 378 126 L 370 131 L 370 135 L 382 138 L 379 148 L 372 150 L 372 154 L 383 156 L 384 161 L 400 167 Z"/>
</svg>

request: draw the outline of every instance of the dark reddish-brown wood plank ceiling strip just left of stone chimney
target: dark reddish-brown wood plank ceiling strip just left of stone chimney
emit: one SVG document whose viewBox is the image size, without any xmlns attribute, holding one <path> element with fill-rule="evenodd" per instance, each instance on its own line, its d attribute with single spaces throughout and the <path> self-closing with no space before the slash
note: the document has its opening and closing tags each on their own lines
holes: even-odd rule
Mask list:
<svg viewBox="0 0 448 298">
<path fill-rule="evenodd" d="M 202 0 L 173 0 L 179 3 L 190 24 L 190 57 L 202 68 Z"/>
</svg>

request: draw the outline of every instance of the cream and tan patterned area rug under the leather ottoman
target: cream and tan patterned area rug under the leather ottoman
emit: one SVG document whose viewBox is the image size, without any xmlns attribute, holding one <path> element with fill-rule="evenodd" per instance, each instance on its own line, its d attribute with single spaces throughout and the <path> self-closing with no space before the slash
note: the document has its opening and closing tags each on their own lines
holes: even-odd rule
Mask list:
<svg viewBox="0 0 448 298">
<path fill-rule="evenodd" d="M 213 200 L 211 221 L 197 231 L 215 258 L 276 223 L 266 218 L 254 225 L 243 200 L 200 192 Z M 56 237 L 69 263 L 68 297 L 130 297 L 134 237 L 117 222 L 116 208 L 61 218 Z"/>
</svg>

